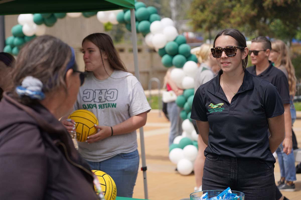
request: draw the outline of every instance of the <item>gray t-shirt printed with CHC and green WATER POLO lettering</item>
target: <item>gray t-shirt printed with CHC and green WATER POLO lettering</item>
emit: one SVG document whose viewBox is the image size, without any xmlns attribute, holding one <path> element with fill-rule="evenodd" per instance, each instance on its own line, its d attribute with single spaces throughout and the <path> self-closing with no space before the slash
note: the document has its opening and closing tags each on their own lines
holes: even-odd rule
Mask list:
<svg viewBox="0 0 301 200">
<path fill-rule="evenodd" d="M 92 72 L 88 73 L 84 85 L 79 88 L 74 109 L 93 112 L 98 118 L 99 126 L 114 126 L 151 110 L 144 90 L 133 74 L 114 70 L 111 77 L 99 80 Z M 138 147 L 136 130 L 113 135 L 91 144 L 78 142 L 78 146 L 83 158 L 100 162 L 120 153 L 135 151 Z"/>
</svg>

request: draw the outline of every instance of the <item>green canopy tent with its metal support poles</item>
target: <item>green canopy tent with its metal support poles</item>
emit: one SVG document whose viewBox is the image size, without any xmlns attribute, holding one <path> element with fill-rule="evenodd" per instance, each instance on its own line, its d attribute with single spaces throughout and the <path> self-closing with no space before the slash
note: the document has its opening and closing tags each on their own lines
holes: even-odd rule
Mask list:
<svg viewBox="0 0 301 200">
<path fill-rule="evenodd" d="M 4 41 L 4 20 L 3 15 L 22 13 L 71 13 L 71 12 L 92 12 L 101 10 L 131 10 L 132 43 L 135 65 L 135 76 L 140 81 L 138 69 L 137 33 L 135 21 L 135 0 L 72 0 L 72 1 L 41 1 L 41 0 L 0 0 L 0 40 Z M 2 37 L 2 38 L 1 38 Z M 1 46 L 0 49 L 3 49 Z M 146 161 L 144 148 L 143 127 L 140 128 L 141 160 L 144 179 L 144 198 L 148 199 Z"/>
</svg>

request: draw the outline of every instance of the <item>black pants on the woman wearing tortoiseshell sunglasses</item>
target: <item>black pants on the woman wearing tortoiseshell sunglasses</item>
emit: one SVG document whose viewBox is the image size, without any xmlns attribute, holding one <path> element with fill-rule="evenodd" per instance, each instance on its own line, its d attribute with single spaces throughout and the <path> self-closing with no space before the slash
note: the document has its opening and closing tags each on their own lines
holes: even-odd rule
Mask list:
<svg viewBox="0 0 301 200">
<path fill-rule="evenodd" d="M 202 190 L 227 187 L 245 193 L 245 200 L 275 200 L 274 164 L 253 158 L 207 155 Z"/>
</svg>

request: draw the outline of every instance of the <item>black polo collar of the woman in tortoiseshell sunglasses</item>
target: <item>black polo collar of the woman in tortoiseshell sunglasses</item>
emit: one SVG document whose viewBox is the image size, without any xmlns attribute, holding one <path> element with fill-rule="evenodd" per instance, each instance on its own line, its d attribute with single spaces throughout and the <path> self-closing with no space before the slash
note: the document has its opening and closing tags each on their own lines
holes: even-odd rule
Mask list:
<svg viewBox="0 0 301 200">
<path fill-rule="evenodd" d="M 237 91 L 237 94 L 254 88 L 253 75 L 251 75 L 248 72 L 248 70 L 244 70 L 244 73 L 245 74 L 244 74 L 243 83 L 240 86 L 239 90 Z M 223 94 L 223 96 L 225 95 L 225 93 L 222 91 L 221 85 L 219 84 L 221 75 L 222 75 L 222 70 L 219 70 L 219 73 L 217 74 L 216 77 L 213 78 L 213 81 L 209 84 L 207 89 L 208 92 L 218 97 L 221 97 L 220 94 Z M 224 97 L 222 98 L 224 99 Z"/>
</svg>

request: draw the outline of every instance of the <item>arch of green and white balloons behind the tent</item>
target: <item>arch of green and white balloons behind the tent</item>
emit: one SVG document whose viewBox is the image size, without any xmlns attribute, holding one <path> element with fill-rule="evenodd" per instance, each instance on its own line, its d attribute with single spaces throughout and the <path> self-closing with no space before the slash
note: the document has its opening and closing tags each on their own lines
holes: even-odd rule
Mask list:
<svg viewBox="0 0 301 200">
<path fill-rule="evenodd" d="M 64 17 L 76 18 L 83 15 L 88 18 L 96 15 L 101 23 L 110 22 L 113 25 L 125 24 L 131 31 L 130 10 L 113 10 L 84 13 L 34 13 L 20 14 L 18 24 L 11 29 L 12 36 L 6 38 L 4 52 L 18 55 L 22 46 L 35 38 L 45 34 L 46 26 L 53 26 L 58 19 Z M 169 148 L 170 160 L 177 164 L 177 169 L 182 175 L 188 175 L 193 170 L 193 162 L 197 154 L 197 134 L 191 123 L 191 106 L 194 96 L 194 78 L 198 68 L 197 57 L 191 54 L 186 38 L 179 35 L 170 18 L 162 18 L 153 6 L 146 6 L 143 2 L 135 3 L 136 31 L 144 36 L 147 46 L 154 48 L 165 67 L 175 68 L 171 71 L 171 79 L 179 88 L 184 90 L 178 96 L 176 103 L 183 108 L 180 117 L 183 133 L 176 137 L 174 144 Z"/>
</svg>

